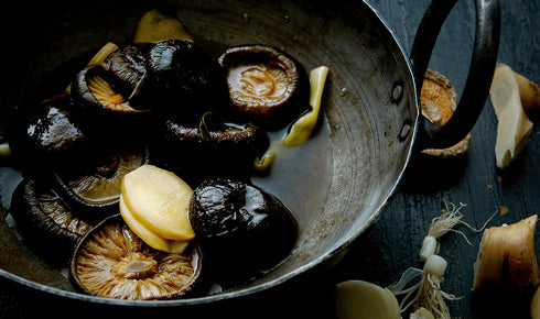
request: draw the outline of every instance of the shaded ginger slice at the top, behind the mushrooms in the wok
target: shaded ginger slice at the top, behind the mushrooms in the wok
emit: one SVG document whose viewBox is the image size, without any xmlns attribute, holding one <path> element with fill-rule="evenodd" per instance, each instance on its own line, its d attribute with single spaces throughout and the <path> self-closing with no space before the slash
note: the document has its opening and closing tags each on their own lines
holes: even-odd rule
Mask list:
<svg viewBox="0 0 540 319">
<path fill-rule="evenodd" d="M 133 43 L 156 43 L 166 40 L 193 42 L 184 25 L 173 14 L 155 9 L 142 15 L 137 28 Z"/>
</svg>

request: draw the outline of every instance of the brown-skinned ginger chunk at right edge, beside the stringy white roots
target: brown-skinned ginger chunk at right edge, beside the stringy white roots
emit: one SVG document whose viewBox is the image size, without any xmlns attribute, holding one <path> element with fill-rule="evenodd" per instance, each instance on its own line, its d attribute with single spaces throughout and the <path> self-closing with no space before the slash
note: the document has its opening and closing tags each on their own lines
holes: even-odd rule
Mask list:
<svg viewBox="0 0 540 319">
<path fill-rule="evenodd" d="M 492 227 L 484 232 L 474 265 L 474 289 L 486 284 L 518 294 L 540 283 L 534 251 L 534 229 L 538 216 L 517 223 Z"/>
</svg>

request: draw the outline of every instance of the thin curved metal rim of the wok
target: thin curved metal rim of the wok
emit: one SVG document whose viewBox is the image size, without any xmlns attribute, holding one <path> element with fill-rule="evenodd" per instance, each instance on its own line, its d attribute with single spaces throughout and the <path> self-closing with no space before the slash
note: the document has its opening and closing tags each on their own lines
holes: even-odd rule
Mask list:
<svg viewBox="0 0 540 319">
<path fill-rule="evenodd" d="M 277 288 L 278 286 L 281 286 L 285 283 L 292 282 L 294 278 L 305 275 L 310 272 L 315 271 L 317 267 L 321 267 L 324 265 L 326 262 L 334 261 L 337 258 L 335 262 L 338 262 L 341 257 L 343 257 L 343 253 L 346 252 L 346 249 L 355 241 L 357 240 L 368 228 L 372 227 L 378 219 L 381 217 L 382 211 L 385 210 L 385 207 L 388 205 L 389 200 L 391 197 L 396 194 L 397 188 L 399 187 L 399 184 L 403 177 L 403 174 L 409 166 L 409 163 L 411 161 L 412 154 L 413 154 L 413 146 L 417 140 L 418 135 L 418 130 L 419 130 L 419 118 L 420 118 L 420 106 L 419 106 L 419 100 L 418 100 L 418 88 L 414 82 L 413 78 L 413 68 L 411 61 L 409 58 L 409 55 L 404 51 L 404 47 L 402 44 L 399 42 L 396 33 L 390 29 L 389 24 L 386 22 L 386 20 L 379 14 L 379 12 L 368 2 L 363 0 L 363 6 L 366 6 L 367 9 L 371 10 L 371 13 L 375 14 L 375 18 L 378 19 L 378 22 L 381 23 L 381 25 L 386 29 L 386 32 L 389 36 L 391 36 L 391 40 L 393 41 L 393 44 L 397 45 L 399 48 L 399 52 L 401 53 L 401 56 L 403 58 L 403 62 L 406 63 L 408 69 L 409 69 L 409 80 L 412 82 L 412 89 L 413 89 L 413 96 L 415 97 L 414 99 L 414 106 L 415 106 L 415 116 L 413 117 L 413 121 L 411 123 L 411 140 L 409 143 L 403 144 L 403 147 L 409 147 L 407 157 L 403 164 L 403 167 L 401 167 L 400 173 L 398 177 L 396 178 L 396 183 L 393 184 L 392 188 L 390 191 L 384 197 L 381 204 L 375 209 L 375 212 L 371 213 L 371 216 L 366 220 L 366 222 L 363 224 L 363 227 L 358 230 L 356 230 L 354 233 L 350 233 L 348 237 L 346 237 L 343 242 L 335 248 L 331 249 L 326 254 L 321 255 L 313 260 L 310 263 L 306 263 L 296 270 L 287 273 L 285 275 L 279 276 L 277 278 L 270 279 L 268 282 L 264 282 L 260 285 L 256 285 L 252 287 L 247 287 L 247 288 L 239 288 L 235 289 L 231 292 L 225 292 L 225 293 L 219 293 L 215 295 L 207 295 L 207 296 L 202 296 L 202 297 L 193 297 L 193 298 L 182 298 L 182 299 L 170 299 L 170 300 L 122 300 L 122 299 L 114 299 L 114 298 L 107 298 L 107 297 L 98 297 L 98 296 L 89 296 L 89 295 L 84 295 L 82 293 L 77 292 L 71 292 L 71 290 L 64 290 L 62 288 L 56 288 L 53 286 L 48 286 L 45 284 L 40 284 L 36 282 L 33 282 L 31 279 L 26 279 L 22 276 L 14 275 L 8 271 L 4 271 L 0 268 L 0 277 L 6 278 L 7 280 L 11 280 L 15 284 L 19 284 L 23 287 L 35 289 L 40 293 L 45 293 L 53 295 L 55 297 L 62 297 L 62 298 L 69 298 L 73 300 L 77 301 L 84 301 L 84 302 L 89 302 L 89 304 L 97 304 L 97 305 L 104 305 L 104 306 L 121 306 L 121 307 L 141 307 L 141 308 L 152 308 L 152 307 L 187 307 L 187 306 L 201 306 L 201 305 L 207 305 L 207 304 L 214 304 L 214 302 L 220 302 L 220 301 L 226 301 L 229 299 L 239 299 L 242 297 L 248 297 L 252 296 L 259 293 L 262 293 L 264 290 L 270 290 L 272 288 Z M 388 38 L 390 40 L 390 38 Z M 412 108 L 411 108 L 412 109 Z"/>
</svg>

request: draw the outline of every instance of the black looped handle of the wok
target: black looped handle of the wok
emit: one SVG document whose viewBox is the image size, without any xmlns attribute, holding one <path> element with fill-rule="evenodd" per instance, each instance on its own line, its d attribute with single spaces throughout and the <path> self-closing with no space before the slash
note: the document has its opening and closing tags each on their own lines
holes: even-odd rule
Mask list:
<svg viewBox="0 0 540 319">
<path fill-rule="evenodd" d="M 433 0 L 420 22 L 410 56 L 419 100 L 436 37 L 456 1 Z M 473 129 L 486 102 L 499 48 L 500 7 L 498 0 L 475 0 L 475 7 L 473 57 L 462 97 L 444 125 L 438 127 L 424 117 L 419 118 L 418 151 L 455 145 Z"/>
</svg>

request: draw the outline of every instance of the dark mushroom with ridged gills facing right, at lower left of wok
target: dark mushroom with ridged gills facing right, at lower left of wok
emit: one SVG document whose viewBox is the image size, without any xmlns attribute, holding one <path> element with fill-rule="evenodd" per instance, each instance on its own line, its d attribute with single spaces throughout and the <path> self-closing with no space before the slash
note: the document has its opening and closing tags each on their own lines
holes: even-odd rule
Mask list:
<svg viewBox="0 0 540 319">
<path fill-rule="evenodd" d="M 54 265 L 67 262 L 77 240 L 91 228 L 48 185 L 34 179 L 15 188 L 11 215 L 28 246 Z"/>
</svg>

